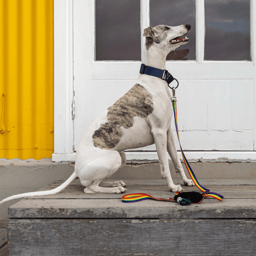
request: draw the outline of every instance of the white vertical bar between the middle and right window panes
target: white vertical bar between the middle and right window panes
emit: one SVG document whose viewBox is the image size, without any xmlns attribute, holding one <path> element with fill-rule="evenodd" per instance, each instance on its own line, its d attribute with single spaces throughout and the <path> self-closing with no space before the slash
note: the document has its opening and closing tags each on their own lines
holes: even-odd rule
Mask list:
<svg viewBox="0 0 256 256">
<path fill-rule="evenodd" d="M 204 0 L 196 0 L 196 61 L 204 61 L 204 39 L 206 24 L 204 15 Z"/>
</svg>

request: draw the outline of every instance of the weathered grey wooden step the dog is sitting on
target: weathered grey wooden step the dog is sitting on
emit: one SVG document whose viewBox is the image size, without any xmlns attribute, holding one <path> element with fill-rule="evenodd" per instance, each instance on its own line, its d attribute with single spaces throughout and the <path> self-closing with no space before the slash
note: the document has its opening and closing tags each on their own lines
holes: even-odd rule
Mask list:
<svg viewBox="0 0 256 256">
<path fill-rule="evenodd" d="M 165 180 L 124 182 L 126 193 L 174 196 Z M 200 182 L 223 201 L 126 204 L 123 194 L 84 194 L 78 180 L 62 193 L 23 199 L 9 208 L 9 255 L 255 255 L 256 180 Z"/>
</svg>

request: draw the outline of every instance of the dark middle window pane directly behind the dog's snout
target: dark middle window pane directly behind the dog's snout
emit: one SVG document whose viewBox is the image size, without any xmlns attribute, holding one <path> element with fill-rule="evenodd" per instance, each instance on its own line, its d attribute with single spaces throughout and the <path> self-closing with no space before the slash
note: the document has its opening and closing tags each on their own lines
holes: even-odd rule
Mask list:
<svg viewBox="0 0 256 256">
<path fill-rule="evenodd" d="M 170 52 L 167 60 L 196 59 L 196 3 L 194 0 L 150 0 L 150 26 L 190 24 L 190 42 Z"/>
</svg>

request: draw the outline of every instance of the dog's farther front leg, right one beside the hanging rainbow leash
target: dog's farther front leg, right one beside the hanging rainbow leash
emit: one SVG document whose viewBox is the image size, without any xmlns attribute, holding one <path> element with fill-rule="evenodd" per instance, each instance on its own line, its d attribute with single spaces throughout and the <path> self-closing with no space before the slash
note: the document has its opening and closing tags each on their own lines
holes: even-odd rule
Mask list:
<svg viewBox="0 0 256 256">
<path fill-rule="evenodd" d="M 182 177 L 184 185 L 194 186 L 194 182 L 192 180 L 189 180 L 186 177 L 186 174 L 182 167 L 182 163 L 180 162 L 180 158 L 178 158 L 178 154 L 177 154 L 177 150 L 176 150 L 175 142 L 174 142 L 174 134 L 172 133 L 172 129 L 170 127 L 167 130 L 167 151 L 170 155 L 170 158 L 172 159 L 175 171 L 178 172 L 180 174 L 180 176 Z"/>
</svg>

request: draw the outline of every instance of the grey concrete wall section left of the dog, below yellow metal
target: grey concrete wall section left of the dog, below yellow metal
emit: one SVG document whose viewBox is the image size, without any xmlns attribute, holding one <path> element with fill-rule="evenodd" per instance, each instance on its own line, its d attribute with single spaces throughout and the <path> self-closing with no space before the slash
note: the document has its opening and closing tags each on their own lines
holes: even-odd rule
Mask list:
<svg viewBox="0 0 256 256">
<path fill-rule="evenodd" d="M 69 163 L 54 163 L 51 159 L 0 159 L 0 200 L 14 194 L 37 191 L 55 180 L 65 180 L 74 172 Z M 0 205 L 0 228 L 6 226 L 7 209 L 20 199 Z"/>
</svg>

